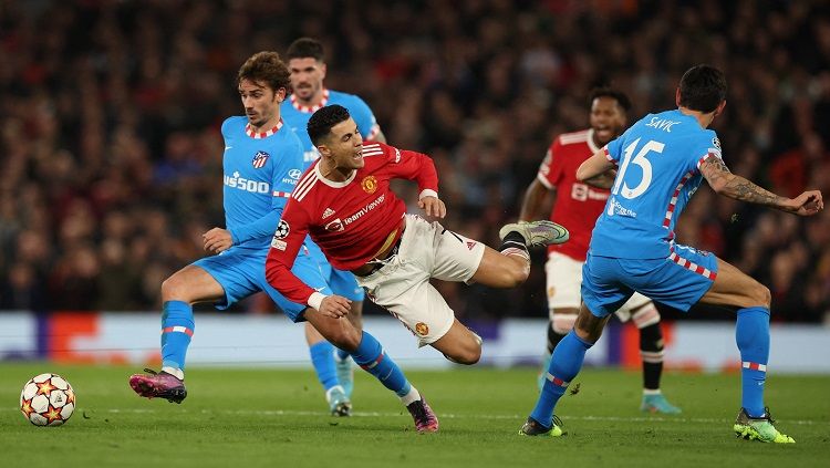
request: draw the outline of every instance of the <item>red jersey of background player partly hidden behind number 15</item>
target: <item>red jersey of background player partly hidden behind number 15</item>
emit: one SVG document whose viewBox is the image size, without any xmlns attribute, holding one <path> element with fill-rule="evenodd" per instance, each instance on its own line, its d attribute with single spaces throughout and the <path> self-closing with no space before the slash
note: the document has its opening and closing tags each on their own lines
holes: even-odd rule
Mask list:
<svg viewBox="0 0 830 468">
<path fill-rule="evenodd" d="M 548 247 L 574 260 L 585 261 L 591 231 L 605 207 L 610 190 L 592 187 L 577 180 L 577 169 L 599 148 L 593 143 L 593 131 L 559 135 L 548 148 L 539 166 L 537 178 L 548 189 L 557 189 L 557 201 L 550 219 L 571 233 L 568 242 Z"/>
</svg>

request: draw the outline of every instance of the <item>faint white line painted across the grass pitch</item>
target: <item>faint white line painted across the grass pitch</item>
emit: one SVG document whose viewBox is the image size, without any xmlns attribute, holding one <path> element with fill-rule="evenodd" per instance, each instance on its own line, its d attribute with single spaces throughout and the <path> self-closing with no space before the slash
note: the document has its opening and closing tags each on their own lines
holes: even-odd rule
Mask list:
<svg viewBox="0 0 830 468">
<path fill-rule="evenodd" d="M 18 408 L 10 408 L 10 407 L 0 407 L 0 410 L 15 410 L 19 412 Z M 162 414 L 166 413 L 163 409 L 138 409 L 138 408 L 101 408 L 101 409 L 92 409 L 92 408 L 76 408 L 75 412 L 87 412 L 92 415 L 96 413 L 108 413 L 108 414 Z M 403 409 L 402 409 L 403 412 Z M 253 409 L 198 409 L 198 410 L 188 410 L 187 408 L 177 408 L 176 413 L 198 413 L 204 415 L 211 415 L 211 414 L 222 414 L 222 415 L 239 415 L 239 416 L 313 416 L 313 417 L 325 417 L 330 416 L 326 412 L 308 412 L 308 410 L 294 410 L 294 409 L 261 409 L 261 410 L 253 410 Z M 396 417 L 406 415 L 405 413 L 381 413 L 381 412 L 353 412 L 352 417 Z M 458 415 L 458 414 L 452 414 L 452 413 L 438 413 L 439 418 L 446 418 L 446 419 L 485 419 L 485 420 L 507 420 L 507 419 L 515 419 L 517 422 L 522 422 L 526 419 L 526 416 L 521 415 L 481 415 L 481 414 L 474 414 L 474 415 Z M 733 422 L 733 419 L 720 419 L 720 418 L 699 418 L 699 417 L 662 417 L 662 416 L 634 416 L 634 417 L 625 417 L 625 416 L 564 416 L 566 423 L 568 420 L 596 420 L 596 422 L 603 422 L 603 423 L 626 423 L 626 422 L 634 422 L 634 423 L 694 423 L 694 424 L 729 424 Z M 823 426 L 823 425 L 830 425 L 830 422 L 822 422 L 822 420 L 809 420 L 809 419 L 802 419 L 802 420 L 790 420 L 790 419 L 776 419 L 779 423 L 786 424 L 795 424 L 799 426 Z"/>
</svg>

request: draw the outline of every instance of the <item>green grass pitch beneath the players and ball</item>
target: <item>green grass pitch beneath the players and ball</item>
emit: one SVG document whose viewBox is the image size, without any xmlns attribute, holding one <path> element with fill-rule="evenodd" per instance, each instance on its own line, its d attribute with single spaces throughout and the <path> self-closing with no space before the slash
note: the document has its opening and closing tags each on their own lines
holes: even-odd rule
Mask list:
<svg viewBox="0 0 830 468">
<path fill-rule="evenodd" d="M 639 412 L 640 374 L 585 370 L 558 415 L 562 438 L 518 429 L 536 402 L 536 370 L 409 371 L 440 419 L 419 435 L 397 398 L 357 370 L 354 416 L 329 416 L 308 370 L 188 371 L 181 405 L 133 394 L 132 367 L 0 365 L 0 467 L 583 467 L 830 466 L 830 376 L 771 375 L 767 404 L 797 444 L 736 439 L 739 376 L 666 373 L 679 416 Z M 75 388 L 62 427 L 35 427 L 20 391 L 42 372 Z M 571 388 L 574 385 L 571 384 Z"/>
</svg>

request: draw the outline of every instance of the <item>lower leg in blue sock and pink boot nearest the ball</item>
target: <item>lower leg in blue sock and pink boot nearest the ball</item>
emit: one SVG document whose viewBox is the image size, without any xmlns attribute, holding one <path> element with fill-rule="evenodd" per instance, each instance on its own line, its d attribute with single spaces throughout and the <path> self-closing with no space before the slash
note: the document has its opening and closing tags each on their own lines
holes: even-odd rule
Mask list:
<svg viewBox="0 0 830 468">
<path fill-rule="evenodd" d="M 193 308 L 184 301 L 167 301 L 162 313 L 162 372 L 145 370 L 129 377 L 129 386 L 139 396 L 181 403 L 185 388 L 185 355 L 194 333 Z"/>
</svg>

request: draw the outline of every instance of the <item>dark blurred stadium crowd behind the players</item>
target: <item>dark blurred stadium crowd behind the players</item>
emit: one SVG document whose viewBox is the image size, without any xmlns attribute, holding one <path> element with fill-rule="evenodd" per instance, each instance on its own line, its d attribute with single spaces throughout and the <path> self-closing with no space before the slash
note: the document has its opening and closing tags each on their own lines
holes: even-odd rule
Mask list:
<svg viewBox="0 0 830 468">
<path fill-rule="evenodd" d="M 626 92 L 633 123 L 673 107 L 696 63 L 726 72 L 714 129 L 734 173 L 830 194 L 820 0 L 0 0 L 0 309 L 157 310 L 160 281 L 224 226 L 237 67 L 301 35 L 325 44 L 326 84 L 362 96 L 391 144 L 434 157 L 445 225 L 490 245 L 550 141 L 588 126 L 593 86 Z M 677 233 L 767 284 L 774 321 L 830 321 L 830 212 L 702 187 Z M 459 316 L 547 316 L 537 256 L 517 290 L 438 288 Z"/>
</svg>

